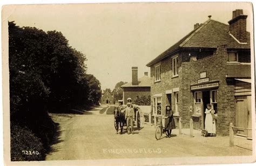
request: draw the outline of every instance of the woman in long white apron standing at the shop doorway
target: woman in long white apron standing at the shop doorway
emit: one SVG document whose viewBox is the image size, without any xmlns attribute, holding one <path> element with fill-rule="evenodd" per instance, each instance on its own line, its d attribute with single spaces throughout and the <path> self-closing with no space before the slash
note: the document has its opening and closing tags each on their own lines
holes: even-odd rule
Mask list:
<svg viewBox="0 0 256 166">
<path fill-rule="evenodd" d="M 216 135 L 216 125 L 215 125 L 215 116 L 214 116 L 214 110 L 211 109 L 211 104 L 207 104 L 207 109 L 205 109 L 205 130 L 208 134 L 211 136 Z"/>
</svg>

